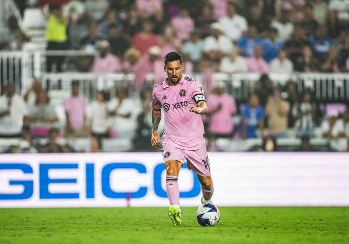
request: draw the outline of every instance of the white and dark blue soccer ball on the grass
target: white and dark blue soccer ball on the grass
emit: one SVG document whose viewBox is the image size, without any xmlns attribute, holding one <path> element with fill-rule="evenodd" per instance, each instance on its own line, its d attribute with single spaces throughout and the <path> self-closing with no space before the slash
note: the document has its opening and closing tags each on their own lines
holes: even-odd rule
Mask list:
<svg viewBox="0 0 349 244">
<path fill-rule="evenodd" d="M 218 224 L 221 213 L 213 204 L 203 204 L 196 210 L 196 218 L 201 226 L 215 226 Z"/>
</svg>

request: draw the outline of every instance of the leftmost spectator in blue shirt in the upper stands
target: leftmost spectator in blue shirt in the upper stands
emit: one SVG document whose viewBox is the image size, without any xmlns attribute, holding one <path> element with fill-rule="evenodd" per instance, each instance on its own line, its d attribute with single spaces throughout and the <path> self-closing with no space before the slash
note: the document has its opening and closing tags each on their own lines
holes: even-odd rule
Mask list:
<svg viewBox="0 0 349 244">
<path fill-rule="evenodd" d="M 247 34 L 242 36 L 237 46 L 242 50 L 242 55 L 249 58 L 254 54 L 254 48 L 262 44 L 262 39 L 257 35 L 257 28 L 250 25 Z"/>
</svg>

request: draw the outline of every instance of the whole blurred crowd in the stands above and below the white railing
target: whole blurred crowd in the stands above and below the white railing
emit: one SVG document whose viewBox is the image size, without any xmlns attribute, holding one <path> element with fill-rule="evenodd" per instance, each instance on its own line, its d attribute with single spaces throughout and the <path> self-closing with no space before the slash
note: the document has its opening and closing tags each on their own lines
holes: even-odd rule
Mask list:
<svg viewBox="0 0 349 244">
<path fill-rule="evenodd" d="M 349 101 L 319 102 L 268 76 L 349 72 L 349 0 L 2 0 L 0 9 L 0 50 L 45 51 L 46 73 L 134 74 L 132 84 L 91 99 L 73 80 L 58 105 L 40 77 L 21 95 L 2 81 L 0 137 L 22 138 L 6 152 L 85 151 L 72 146 L 76 138 L 89 138 L 88 151 L 107 151 L 105 138 L 128 138 L 125 150 L 153 150 L 151 86 L 165 78 L 163 56 L 171 51 L 206 84 L 209 150 L 222 150 L 222 139 L 257 138 L 248 150 L 349 151 Z M 43 29 L 45 45 L 29 26 Z M 237 101 L 213 73 L 260 78 Z M 282 148 L 290 138 L 300 143 Z M 327 139 L 326 147 L 314 138 Z"/>
</svg>

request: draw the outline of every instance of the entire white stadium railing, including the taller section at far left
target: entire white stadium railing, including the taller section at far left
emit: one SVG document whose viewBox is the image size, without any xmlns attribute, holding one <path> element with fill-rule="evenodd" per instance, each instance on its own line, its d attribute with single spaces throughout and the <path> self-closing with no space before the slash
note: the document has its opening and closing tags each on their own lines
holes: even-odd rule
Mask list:
<svg viewBox="0 0 349 244">
<path fill-rule="evenodd" d="M 47 55 L 64 55 L 70 57 L 94 56 L 95 52 L 86 51 L 42 51 L 42 52 L 0 52 L 0 89 L 4 84 L 15 84 L 17 91 L 25 93 L 34 78 L 41 78 L 48 90 L 67 91 L 73 80 L 81 82 L 85 95 L 89 98 L 96 90 L 112 90 L 117 86 L 132 87 L 134 74 L 94 74 L 94 73 L 45 73 Z M 189 74 L 188 74 L 189 75 Z M 295 82 L 297 90 L 302 93 L 309 90 L 314 99 L 323 102 L 349 101 L 349 73 L 294 73 L 268 74 L 274 84 L 285 85 L 288 81 Z M 201 81 L 201 75 L 190 74 Z M 224 81 L 227 91 L 237 101 L 244 101 L 255 91 L 255 82 L 259 74 L 213 74 L 213 81 Z M 153 75 L 148 74 L 146 84 L 153 85 Z M 204 86 L 207 84 L 203 84 Z M 1 92 L 1 90 L 0 90 Z"/>
</svg>

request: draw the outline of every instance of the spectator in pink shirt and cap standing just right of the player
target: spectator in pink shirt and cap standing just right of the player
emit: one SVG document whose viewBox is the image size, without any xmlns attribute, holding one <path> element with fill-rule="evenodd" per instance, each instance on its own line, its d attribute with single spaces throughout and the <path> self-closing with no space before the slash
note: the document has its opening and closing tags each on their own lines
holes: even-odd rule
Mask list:
<svg viewBox="0 0 349 244">
<path fill-rule="evenodd" d="M 208 131 L 214 138 L 231 137 L 234 129 L 231 117 L 236 113 L 235 99 L 224 92 L 224 87 L 224 82 L 216 82 L 215 94 L 207 100 Z"/>
</svg>

